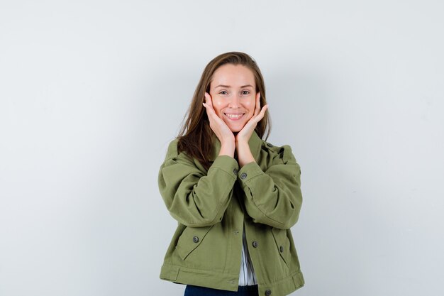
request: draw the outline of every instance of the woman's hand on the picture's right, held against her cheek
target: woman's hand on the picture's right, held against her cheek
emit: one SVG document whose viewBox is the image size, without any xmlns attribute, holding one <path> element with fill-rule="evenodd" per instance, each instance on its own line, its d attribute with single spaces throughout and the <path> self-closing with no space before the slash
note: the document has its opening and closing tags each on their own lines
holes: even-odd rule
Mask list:
<svg viewBox="0 0 444 296">
<path fill-rule="evenodd" d="M 236 150 L 238 151 L 239 166 L 242 168 L 247 163 L 252 163 L 255 161 L 253 158 L 248 141 L 255 130 L 257 123 L 264 118 L 265 111 L 267 111 L 268 105 L 260 108 L 260 93 L 256 94 L 256 105 L 255 113 L 250 118 L 250 120 L 245 124 L 245 126 L 238 132 L 235 136 Z"/>
</svg>

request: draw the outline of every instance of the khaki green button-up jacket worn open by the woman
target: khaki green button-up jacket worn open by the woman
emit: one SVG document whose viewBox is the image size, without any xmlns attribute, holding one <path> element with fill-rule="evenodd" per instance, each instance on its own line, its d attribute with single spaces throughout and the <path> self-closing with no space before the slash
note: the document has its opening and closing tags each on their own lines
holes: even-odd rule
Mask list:
<svg viewBox="0 0 444 296">
<path fill-rule="evenodd" d="M 299 164 L 289 146 L 272 146 L 255 132 L 249 145 L 256 162 L 239 170 L 235 158 L 218 156 L 221 143 L 214 137 L 207 171 L 177 153 L 177 140 L 170 143 L 158 181 L 179 224 L 162 265 L 163 280 L 238 290 L 245 226 L 259 295 L 289 295 L 304 285 L 290 231 L 302 203 Z"/>
</svg>

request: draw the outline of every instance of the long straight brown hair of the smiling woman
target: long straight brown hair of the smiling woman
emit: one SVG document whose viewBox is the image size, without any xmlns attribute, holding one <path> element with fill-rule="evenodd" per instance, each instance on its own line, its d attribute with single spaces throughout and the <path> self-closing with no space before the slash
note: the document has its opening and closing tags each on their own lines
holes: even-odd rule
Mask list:
<svg viewBox="0 0 444 296">
<path fill-rule="evenodd" d="M 197 84 L 196 90 L 194 91 L 192 103 L 185 115 L 186 119 L 177 136 L 179 139 L 177 150 L 179 152 L 184 151 L 190 157 L 196 158 L 207 169 L 211 165 L 209 163 L 209 155 L 211 153 L 211 147 L 213 146 L 213 131 L 210 128 L 209 119 L 202 103 L 205 102 L 205 92 L 210 92 L 213 73 L 218 67 L 226 64 L 248 67 L 255 76 L 256 92 L 260 92 L 260 106 L 267 104 L 264 78 L 255 60 L 253 60 L 250 55 L 239 52 L 223 53 L 214 57 L 213 60 L 206 65 L 199 84 Z M 270 115 L 268 111 L 266 111 L 264 118 L 257 123 L 255 131 L 260 138 L 265 136 L 265 139 L 267 139 L 270 135 L 270 128 Z"/>
</svg>

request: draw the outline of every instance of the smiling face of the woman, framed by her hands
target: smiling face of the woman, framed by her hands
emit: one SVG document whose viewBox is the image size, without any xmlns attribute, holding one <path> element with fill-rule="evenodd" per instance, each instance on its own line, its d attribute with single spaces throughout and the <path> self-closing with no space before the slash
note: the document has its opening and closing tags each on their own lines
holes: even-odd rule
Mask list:
<svg viewBox="0 0 444 296">
<path fill-rule="evenodd" d="M 233 133 L 240 131 L 255 112 L 256 84 L 243 65 L 226 64 L 213 73 L 210 95 L 214 111 Z"/>
</svg>

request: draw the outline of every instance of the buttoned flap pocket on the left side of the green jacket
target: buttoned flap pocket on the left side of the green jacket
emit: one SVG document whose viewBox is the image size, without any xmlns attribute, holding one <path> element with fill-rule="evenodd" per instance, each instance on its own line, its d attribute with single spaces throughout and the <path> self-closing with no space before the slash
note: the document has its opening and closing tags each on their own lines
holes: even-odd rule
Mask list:
<svg viewBox="0 0 444 296">
<path fill-rule="evenodd" d="M 189 254 L 191 254 L 192 251 L 204 241 L 204 238 L 206 234 L 208 234 L 208 231 L 210 231 L 211 227 L 213 227 L 213 225 L 205 227 L 188 226 L 184 232 L 182 232 L 176 245 L 177 254 L 182 260 L 187 259 Z"/>
</svg>

